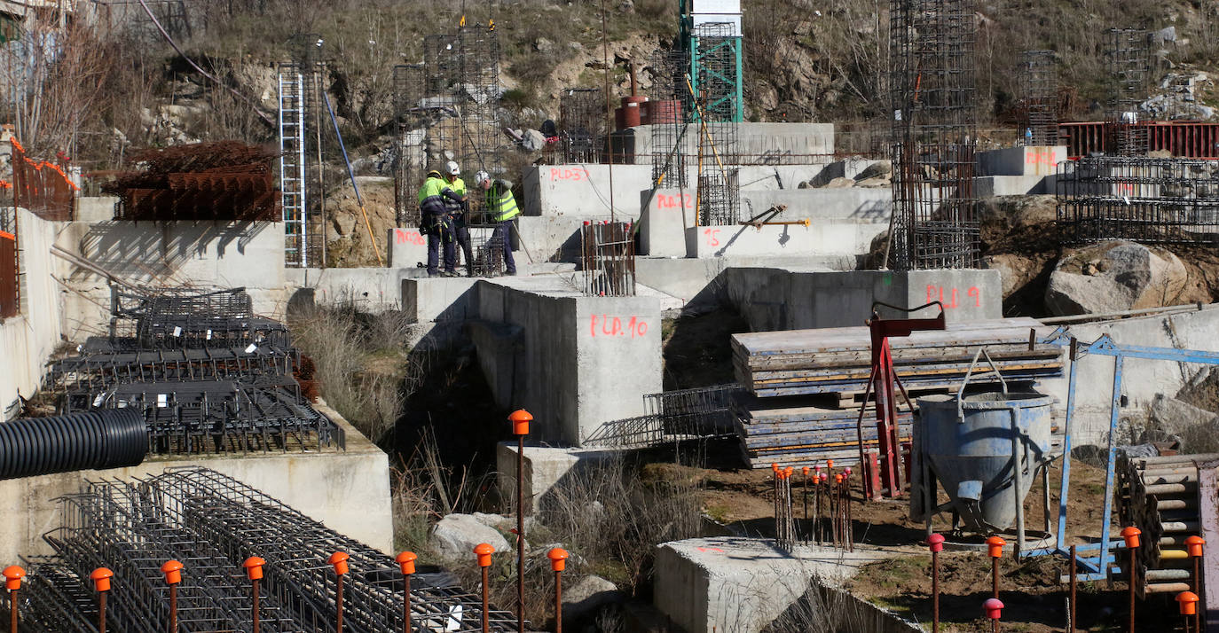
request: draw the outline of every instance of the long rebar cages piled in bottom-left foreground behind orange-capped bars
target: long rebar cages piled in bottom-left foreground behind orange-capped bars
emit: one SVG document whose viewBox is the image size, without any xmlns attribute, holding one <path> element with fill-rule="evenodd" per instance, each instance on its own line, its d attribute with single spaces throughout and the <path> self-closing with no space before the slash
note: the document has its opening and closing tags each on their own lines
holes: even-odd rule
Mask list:
<svg viewBox="0 0 1219 633">
<path fill-rule="evenodd" d="M 168 586 L 161 564 L 179 560 L 178 624 L 183 632 L 251 631 L 250 583 L 240 564 L 266 559 L 260 626 L 267 632 L 335 631 L 335 577 L 327 558 L 350 555 L 344 631 L 402 631 L 397 565 L 244 483 L 207 469 L 168 470 L 130 483 L 104 481 L 61 499 L 63 525 L 49 532 L 54 556 L 27 561 L 23 631 L 94 632 L 98 611 L 89 572 L 115 571 L 107 627 L 161 632 Z M 411 584 L 418 631 L 480 631 L 482 601 L 445 573 L 417 573 Z M 492 631 L 516 618 L 489 612 Z"/>
</svg>

